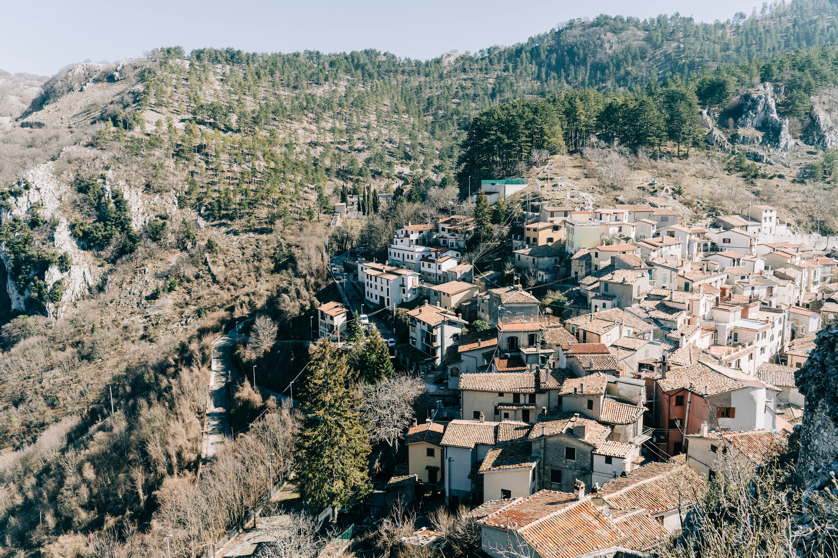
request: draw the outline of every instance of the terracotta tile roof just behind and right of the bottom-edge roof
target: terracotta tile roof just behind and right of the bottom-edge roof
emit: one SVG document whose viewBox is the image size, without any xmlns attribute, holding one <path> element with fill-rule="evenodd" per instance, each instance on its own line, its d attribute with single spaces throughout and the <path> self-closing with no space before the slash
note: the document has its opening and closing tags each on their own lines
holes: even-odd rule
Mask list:
<svg viewBox="0 0 838 558">
<path fill-rule="evenodd" d="M 704 490 L 704 479 L 687 467 L 685 456 L 680 455 L 611 479 L 603 484 L 597 496 L 612 508 L 645 508 L 650 514 L 663 514 L 679 507 L 691 507 Z"/>
</svg>

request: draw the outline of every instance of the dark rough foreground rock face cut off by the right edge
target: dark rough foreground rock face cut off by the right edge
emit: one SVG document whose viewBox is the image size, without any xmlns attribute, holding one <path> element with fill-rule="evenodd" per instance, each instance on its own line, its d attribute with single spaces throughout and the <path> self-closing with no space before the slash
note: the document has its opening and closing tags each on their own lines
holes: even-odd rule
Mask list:
<svg viewBox="0 0 838 558">
<path fill-rule="evenodd" d="M 804 484 L 822 488 L 838 471 L 838 327 L 822 330 L 815 344 L 794 375 L 806 397 L 798 471 Z"/>
</svg>

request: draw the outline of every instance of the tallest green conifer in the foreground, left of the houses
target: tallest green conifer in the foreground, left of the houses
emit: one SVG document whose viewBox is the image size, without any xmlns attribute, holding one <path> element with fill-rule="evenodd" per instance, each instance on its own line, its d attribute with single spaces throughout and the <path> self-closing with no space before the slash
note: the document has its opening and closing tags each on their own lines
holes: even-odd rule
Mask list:
<svg viewBox="0 0 838 558">
<path fill-rule="evenodd" d="M 308 364 L 308 381 L 300 393 L 305 415 L 296 440 L 297 487 L 314 509 L 338 510 L 372 492 L 370 443 L 351 378 L 346 357 L 329 341 Z"/>
</svg>

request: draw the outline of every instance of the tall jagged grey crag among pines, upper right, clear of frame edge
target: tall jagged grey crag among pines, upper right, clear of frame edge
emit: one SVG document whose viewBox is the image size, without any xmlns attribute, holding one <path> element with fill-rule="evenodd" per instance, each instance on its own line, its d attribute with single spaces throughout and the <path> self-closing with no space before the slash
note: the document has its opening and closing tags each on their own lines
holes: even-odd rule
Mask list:
<svg viewBox="0 0 838 558">
<path fill-rule="evenodd" d="M 780 119 L 777 115 L 777 102 L 773 96 L 773 86 L 760 84 L 756 91 L 742 95 L 742 115 L 736 120 L 740 129 L 736 137 L 740 143 L 759 145 L 771 150 L 788 152 L 794 146 L 794 139 L 789 134 L 789 119 Z M 753 129 L 759 133 L 753 133 Z"/>
</svg>

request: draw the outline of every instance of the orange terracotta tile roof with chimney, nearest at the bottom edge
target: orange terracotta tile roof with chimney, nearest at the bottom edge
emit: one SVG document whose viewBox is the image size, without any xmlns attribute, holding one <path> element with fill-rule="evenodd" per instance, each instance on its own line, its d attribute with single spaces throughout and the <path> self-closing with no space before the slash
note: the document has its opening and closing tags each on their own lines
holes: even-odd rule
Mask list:
<svg viewBox="0 0 838 558">
<path fill-rule="evenodd" d="M 499 530 L 515 530 L 541 558 L 576 558 L 618 545 L 626 539 L 590 499 L 541 490 L 480 520 Z"/>
</svg>

